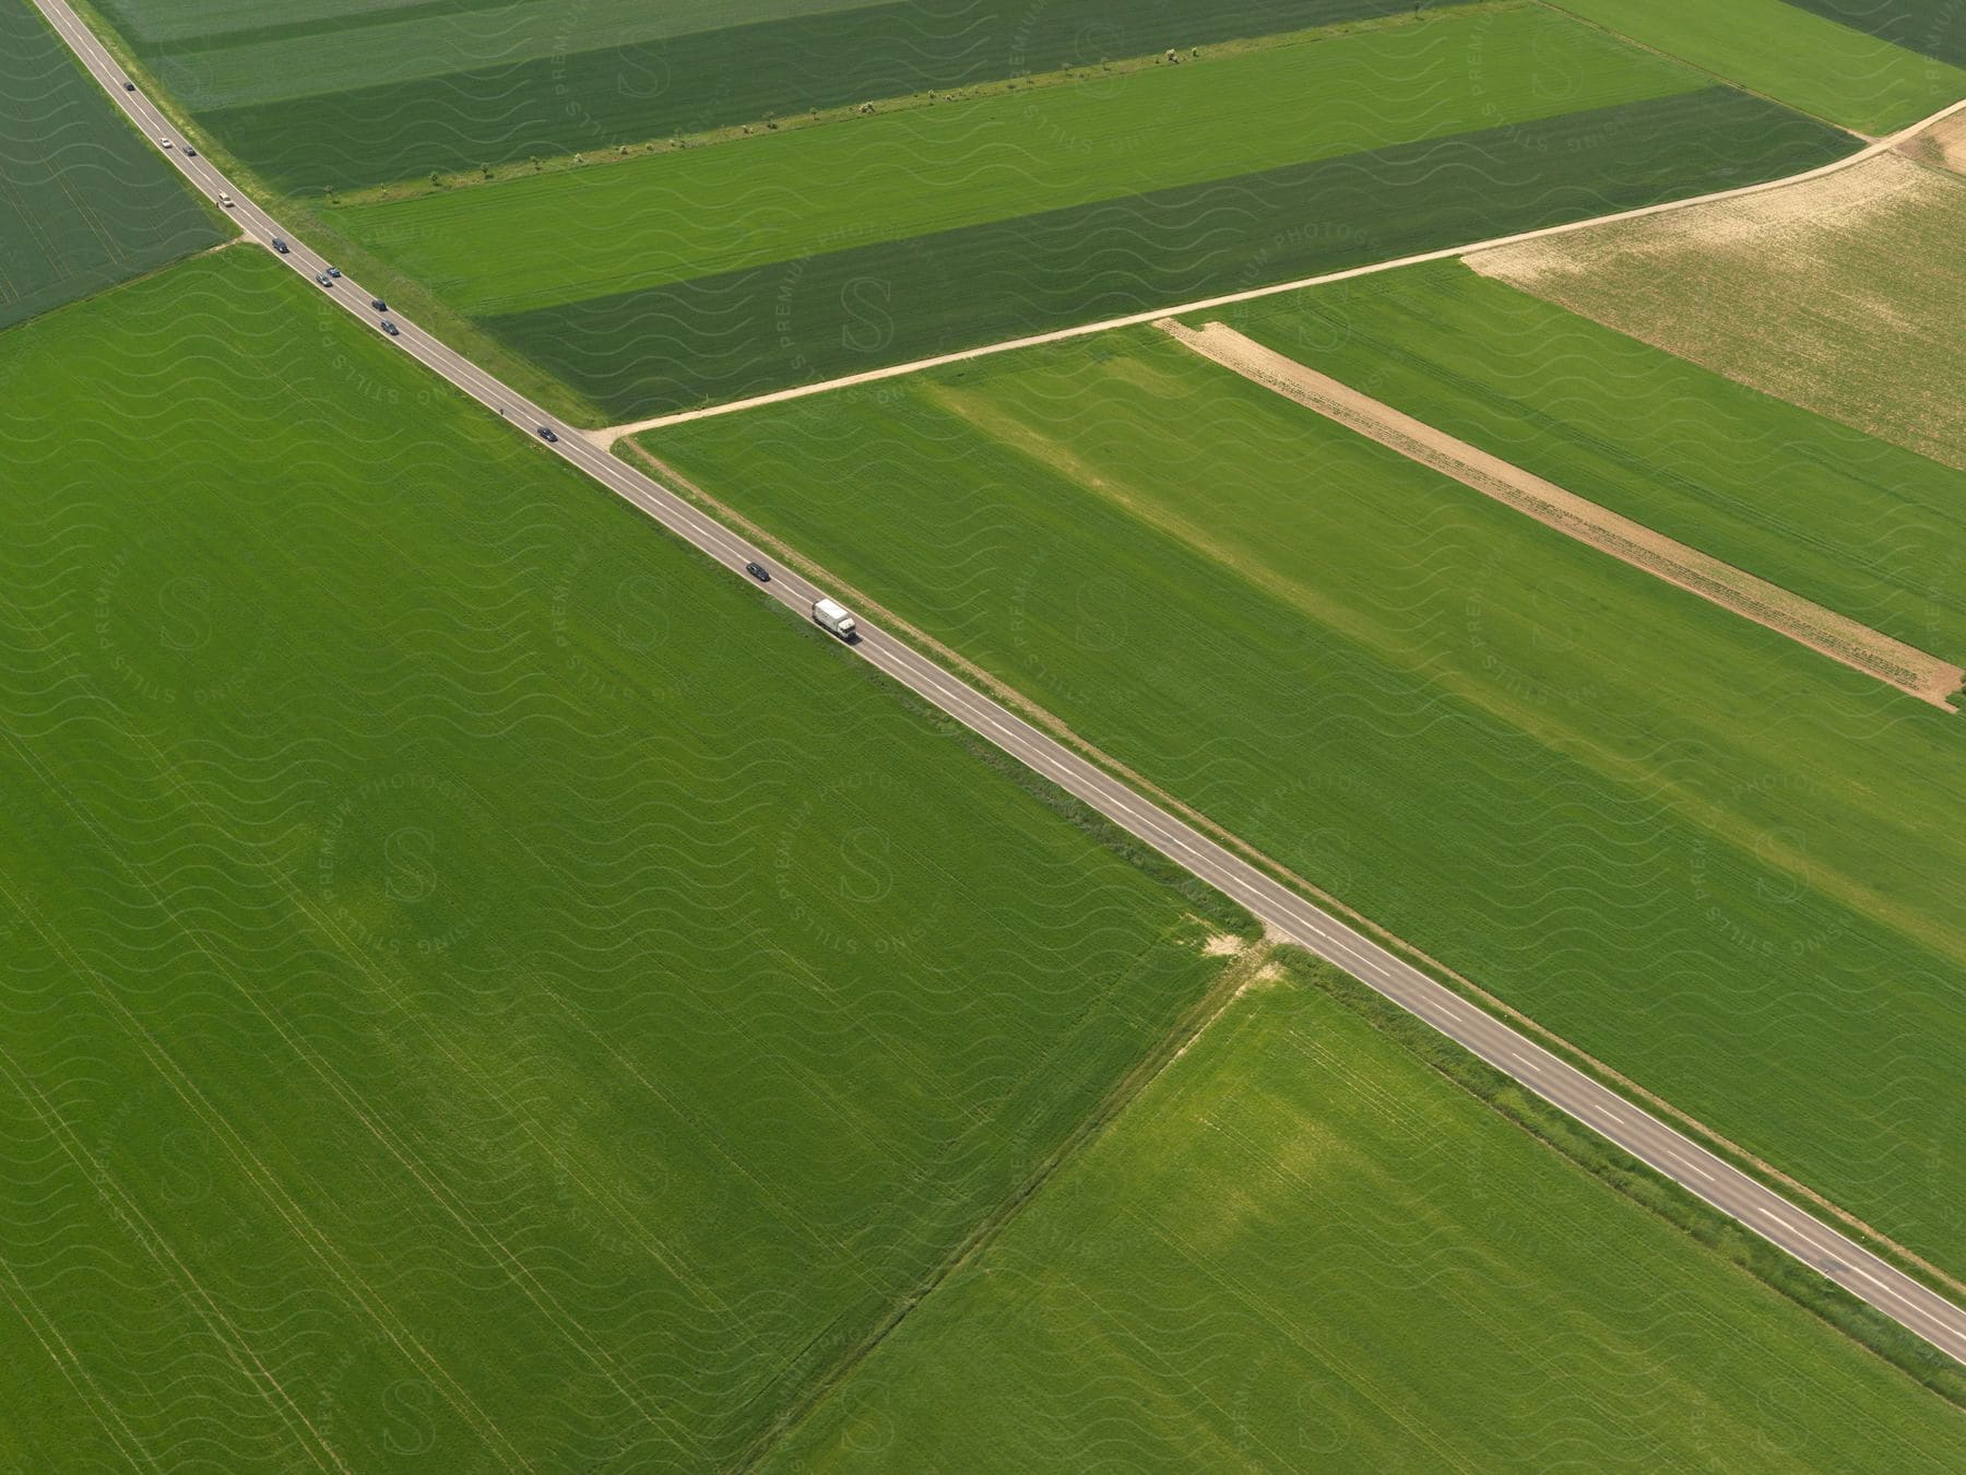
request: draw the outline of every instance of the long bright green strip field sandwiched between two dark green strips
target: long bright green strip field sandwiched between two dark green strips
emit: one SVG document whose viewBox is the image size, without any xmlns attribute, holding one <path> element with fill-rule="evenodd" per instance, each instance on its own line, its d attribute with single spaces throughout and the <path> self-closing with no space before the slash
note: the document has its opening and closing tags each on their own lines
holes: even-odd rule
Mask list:
<svg viewBox="0 0 1966 1475">
<path fill-rule="evenodd" d="M 458 311 L 507 315 L 1705 85 L 1539 6 L 1476 6 L 330 216 Z"/>
</svg>

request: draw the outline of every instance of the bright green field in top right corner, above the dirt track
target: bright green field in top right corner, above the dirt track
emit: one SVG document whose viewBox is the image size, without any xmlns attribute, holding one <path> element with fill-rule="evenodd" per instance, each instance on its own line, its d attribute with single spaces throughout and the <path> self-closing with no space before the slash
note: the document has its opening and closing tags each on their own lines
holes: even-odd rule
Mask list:
<svg viewBox="0 0 1966 1475">
<path fill-rule="evenodd" d="M 1917 6 L 1864 2 L 1907 24 L 1868 31 L 1836 24 L 1848 16 L 1834 10 L 1854 10 L 1852 0 L 1555 0 L 1722 81 L 1866 134 L 1889 134 L 1966 96 L 1966 55 L 1919 53 L 1919 28 L 1905 14 Z"/>
</svg>

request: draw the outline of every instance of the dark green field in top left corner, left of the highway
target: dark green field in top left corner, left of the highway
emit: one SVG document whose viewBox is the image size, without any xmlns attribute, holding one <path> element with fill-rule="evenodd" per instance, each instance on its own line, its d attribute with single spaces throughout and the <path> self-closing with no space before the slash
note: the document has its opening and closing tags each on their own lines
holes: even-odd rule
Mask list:
<svg viewBox="0 0 1966 1475">
<path fill-rule="evenodd" d="M 0 328 L 222 240 L 28 4 L 0 6 Z"/>
</svg>

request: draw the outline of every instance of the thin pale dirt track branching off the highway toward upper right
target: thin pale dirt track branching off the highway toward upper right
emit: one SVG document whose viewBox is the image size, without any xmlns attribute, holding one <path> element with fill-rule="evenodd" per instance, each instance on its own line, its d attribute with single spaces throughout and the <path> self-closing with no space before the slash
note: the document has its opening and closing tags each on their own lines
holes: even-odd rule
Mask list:
<svg viewBox="0 0 1966 1475">
<path fill-rule="evenodd" d="M 613 442 L 627 435 L 641 435 L 643 431 L 661 431 L 670 425 L 686 425 L 690 421 L 712 419 L 716 415 L 735 415 L 743 409 L 763 409 L 765 405 L 782 405 L 792 399 L 806 399 L 810 395 L 830 393 L 834 389 L 851 389 L 857 384 L 879 384 L 883 380 L 898 380 L 908 374 L 920 374 L 924 370 L 942 368 L 946 364 L 965 364 L 971 358 L 989 358 L 991 354 L 1009 354 L 1018 348 L 1042 348 L 1044 344 L 1070 342 L 1071 338 L 1089 338 L 1097 332 L 1111 332 L 1115 328 L 1138 328 L 1148 323 L 1158 323 L 1164 317 L 1185 317 L 1191 313 L 1209 313 L 1217 307 L 1233 307 L 1237 303 L 1252 303 L 1262 297 L 1280 297 L 1288 291 L 1303 291 L 1305 287 L 1323 287 L 1333 281 L 1351 281 L 1353 277 L 1368 277 L 1378 271 L 1398 271 L 1404 266 L 1423 266 L 1427 262 L 1449 262 L 1461 256 L 1474 256 L 1476 252 L 1492 252 L 1502 246 L 1520 246 L 1532 240 L 1545 240 L 1547 236 L 1563 236 L 1573 230 L 1590 230 L 1592 226 L 1608 226 L 1620 220 L 1640 220 L 1653 214 L 1665 214 L 1669 210 L 1687 210 L 1695 205 L 1712 205 L 1716 201 L 1732 201 L 1748 195 L 1762 195 L 1771 189 L 1787 189 L 1789 185 L 1803 185 L 1811 179 L 1822 179 L 1824 175 L 1838 173 L 1840 169 L 1850 169 L 1864 159 L 1874 159 L 1876 155 L 1897 148 L 1899 144 L 1909 144 L 1913 138 L 1923 134 L 1927 128 L 1944 122 L 1954 112 L 1966 108 L 1966 98 L 1950 102 L 1929 118 L 1921 118 L 1909 128 L 1901 128 L 1885 138 L 1872 140 L 1856 153 L 1848 153 L 1842 159 L 1830 159 L 1828 163 L 1819 163 L 1815 169 L 1805 169 L 1799 175 L 1785 175 L 1781 179 L 1764 179 L 1760 185 L 1740 185 L 1738 189 L 1720 189 L 1706 195 L 1689 195 L 1683 201 L 1661 201 L 1659 205 L 1640 205 L 1632 210 L 1616 210 L 1614 214 L 1596 214 L 1589 220 L 1567 220 L 1555 226 L 1537 226 L 1535 230 L 1520 230 L 1512 236 L 1494 236 L 1490 240 L 1476 240 L 1463 246 L 1443 246 L 1433 252 L 1419 252 L 1417 256 L 1398 256 L 1390 262 L 1370 262 L 1366 266 L 1349 266 L 1343 271 L 1325 271 L 1315 277 L 1300 277 L 1296 281 L 1278 281 L 1268 287 L 1248 287 L 1244 291 L 1223 293 L 1219 297 L 1203 297 L 1191 303 L 1180 303 L 1172 307 L 1156 307 L 1146 313 L 1127 313 L 1125 317 L 1109 317 L 1099 323 L 1079 323 L 1070 328 L 1054 328 L 1052 332 L 1034 332 L 1024 338 L 1005 338 L 1003 342 L 981 344 L 977 348 L 959 348 L 952 354 L 936 354 L 934 358 L 916 358 L 906 364 L 889 364 L 887 368 L 863 370 L 859 374 L 845 374 L 838 380 L 822 380 L 820 384 L 800 384 L 790 389 L 775 389 L 763 395 L 751 395 L 749 399 L 727 399 L 722 405 L 704 405 L 700 409 L 680 409 L 668 415 L 655 415 L 643 421 L 627 421 L 621 425 L 607 425 L 600 431 L 582 431 L 582 435 L 594 444 L 611 450 Z M 1844 130 L 1850 132 L 1850 130 Z M 1850 134 L 1852 138 L 1862 138 L 1862 134 Z"/>
</svg>

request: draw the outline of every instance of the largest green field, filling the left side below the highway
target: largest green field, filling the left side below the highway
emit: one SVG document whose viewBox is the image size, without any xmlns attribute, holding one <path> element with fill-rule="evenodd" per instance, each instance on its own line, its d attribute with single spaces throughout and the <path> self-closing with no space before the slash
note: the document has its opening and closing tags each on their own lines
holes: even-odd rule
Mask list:
<svg viewBox="0 0 1966 1475">
<path fill-rule="evenodd" d="M 729 1465 L 1221 970 L 261 252 L 0 382 L 0 1465 Z"/>
</svg>

